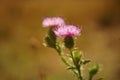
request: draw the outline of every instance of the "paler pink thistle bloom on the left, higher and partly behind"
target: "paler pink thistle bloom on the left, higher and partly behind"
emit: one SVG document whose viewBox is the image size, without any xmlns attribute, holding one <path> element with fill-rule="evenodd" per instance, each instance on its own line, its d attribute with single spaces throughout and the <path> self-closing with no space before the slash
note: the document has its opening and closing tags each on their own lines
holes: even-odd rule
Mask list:
<svg viewBox="0 0 120 80">
<path fill-rule="evenodd" d="M 61 17 L 45 18 L 42 23 L 43 27 L 57 27 L 63 24 L 65 22 Z"/>
</svg>

